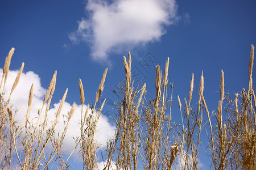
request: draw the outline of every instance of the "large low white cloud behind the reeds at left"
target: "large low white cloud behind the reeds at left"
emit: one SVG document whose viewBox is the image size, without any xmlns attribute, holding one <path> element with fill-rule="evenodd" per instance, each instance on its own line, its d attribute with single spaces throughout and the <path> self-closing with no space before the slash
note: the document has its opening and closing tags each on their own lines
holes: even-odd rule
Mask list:
<svg viewBox="0 0 256 170">
<path fill-rule="evenodd" d="M 5 100 L 7 100 L 9 97 L 11 87 L 13 86 L 13 83 L 17 74 L 18 74 L 18 70 L 16 71 L 9 70 L 7 83 L 5 87 L 5 91 L 6 91 L 6 94 L 4 96 Z M 0 69 L 0 78 L 2 78 L 2 69 Z M 16 86 L 10 99 L 10 103 L 13 104 L 13 109 L 14 110 L 19 109 L 15 117 L 15 120 L 19 122 L 23 119 L 23 117 L 27 113 L 28 95 L 29 95 L 29 91 L 32 83 L 34 83 L 34 97 L 32 100 L 32 109 L 30 112 L 30 120 L 32 122 L 35 123 L 37 121 L 37 119 L 35 119 L 36 117 L 38 117 L 37 111 L 38 109 L 42 108 L 44 95 L 46 94 L 47 90 L 41 86 L 39 75 L 35 74 L 32 71 L 28 71 L 27 73 L 22 73 L 19 79 L 19 83 Z M 2 89 L 1 89 L 1 92 L 2 92 Z M 54 97 L 54 94 L 53 94 L 53 97 Z M 59 108 L 59 105 L 60 105 L 60 102 L 53 104 L 53 107 L 49 109 L 49 112 L 48 112 L 49 121 L 54 120 L 55 112 Z M 44 107 L 44 109 L 45 108 L 46 106 Z M 63 120 L 62 114 L 67 115 L 70 109 L 71 109 L 71 104 L 65 102 L 63 105 L 63 109 L 61 111 L 60 120 L 57 127 L 59 130 L 64 129 L 64 126 L 63 126 L 64 120 Z M 83 109 L 85 111 L 86 106 Z M 43 121 L 43 117 L 44 115 L 42 114 L 41 121 Z M 63 148 L 68 150 L 68 152 L 72 151 L 73 148 L 75 147 L 75 141 L 72 139 L 72 137 L 76 138 L 80 135 L 80 118 L 81 118 L 81 105 L 77 105 L 76 111 L 73 114 L 71 121 L 69 122 L 68 130 L 64 139 Z M 24 124 L 24 121 L 23 121 L 23 124 Z M 101 147 L 106 146 L 106 141 L 108 140 L 108 138 L 113 137 L 114 130 L 115 130 L 115 127 L 110 124 L 108 118 L 103 115 L 100 116 L 97 132 L 96 132 L 96 141 L 98 142 L 98 145 L 100 145 Z"/>
</svg>

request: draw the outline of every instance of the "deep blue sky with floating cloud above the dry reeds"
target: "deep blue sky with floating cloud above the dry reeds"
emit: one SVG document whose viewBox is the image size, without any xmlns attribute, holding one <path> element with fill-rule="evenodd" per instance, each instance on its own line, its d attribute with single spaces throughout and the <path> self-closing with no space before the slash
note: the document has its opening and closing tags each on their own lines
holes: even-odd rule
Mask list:
<svg viewBox="0 0 256 170">
<path fill-rule="evenodd" d="M 177 95 L 184 105 L 182 99 L 188 97 L 192 73 L 192 103 L 197 103 L 203 70 L 204 96 L 210 111 L 217 109 L 220 100 L 221 69 L 225 92 L 233 95 L 247 88 L 250 48 L 256 42 L 255 8 L 256 2 L 247 0 L 0 1 L 1 67 L 14 47 L 10 70 L 18 70 L 25 63 L 19 87 L 22 92 L 17 90 L 13 96 L 20 105 L 27 103 L 31 83 L 38 84 L 35 95 L 38 102 L 42 100 L 57 70 L 53 103 L 58 103 L 68 88 L 68 109 L 74 101 L 80 103 L 79 78 L 84 84 L 85 103 L 93 103 L 106 67 L 109 71 L 102 98 L 117 101 L 111 90 L 123 80 L 122 57 L 129 51 L 132 67 L 136 66 L 134 70 L 147 83 L 148 97 L 154 98 L 155 70 L 146 70 L 143 62 L 150 55 L 163 68 L 170 57 L 172 115 L 179 121 Z M 255 82 L 255 74 L 253 79 Z M 113 130 L 109 114 L 102 120 Z"/>
</svg>

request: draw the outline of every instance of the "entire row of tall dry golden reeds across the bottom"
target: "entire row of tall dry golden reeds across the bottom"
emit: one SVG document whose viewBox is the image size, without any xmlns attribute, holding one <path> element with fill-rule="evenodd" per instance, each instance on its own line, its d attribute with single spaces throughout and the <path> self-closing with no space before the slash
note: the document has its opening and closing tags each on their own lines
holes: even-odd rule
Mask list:
<svg viewBox="0 0 256 170">
<path fill-rule="evenodd" d="M 27 112 L 22 122 L 15 120 L 16 111 L 10 104 L 11 94 L 19 82 L 24 63 L 20 67 L 8 100 L 4 100 L 5 86 L 12 48 L 6 57 L 0 85 L 0 165 L 3 169 L 11 169 L 13 159 L 18 160 L 22 169 L 68 169 L 68 160 L 77 147 L 84 169 L 98 169 L 97 157 L 99 146 L 95 133 L 105 100 L 100 109 L 96 104 L 104 90 L 104 82 L 108 69 L 105 70 L 93 105 L 87 105 L 84 111 L 84 88 L 79 79 L 81 120 L 80 137 L 75 139 L 76 146 L 67 154 L 63 150 L 63 140 L 69 122 L 75 112 L 73 103 L 67 113 L 63 131 L 55 131 L 68 90 L 64 92 L 60 106 L 53 120 L 49 120 L 49 106 L 55 91 L 57 72 L 52 76 L 42 108 L 38 110 L 35 123 L 30 119 L 34 85 L 31 85 L 28 96 Z M 116 105 L 117 115 L 115 135 L 109 139 L 106 152 L 102 152 L 102 161 L 106 162 L 104 169 L 199 169 L 199 151 L 201 146 L 209 148 L 207 154 L 212 160 L 214 169 L 256 169 L 256 99 L 253 89 L 254 46 L 251 46 L 249 62 L 249 86 L 243 88 L 235 98 L 225 95 L 224 72 L 221 70 L 220 101 L 217 112 L 210 113 L 204 97 L 203 71 L 199 86 L 199 99 L 196 107 L 191 104 L 194 88 L 194 75 L 188 92 L 188 102 L 182 104 L 177 96 L 181 115 L 181 125 L 171 119 L 173 85 L 168 83 L 169 58 L 164 67 L 156 66 L 155 98 L 148 100 L 146 84 L 135 87 L 131 77 L 131 54 L 128 60 L 123 57 L 125 67 L 125 82 L 119 90 L 122 99 Z M 170 92 L 168 85 L 170 84 Z M 3 87 L 2 87 L 3 86 Z M 204 111 L 207 117 L 204 118 Z M 42 121 L 43 120 L 43 121 Z M 216 128 L 213 128 L 216 127 Z M 201 133 L 206 128 L 209 143 L 202 143 Z M 46 149 L 47 154 L 46 154 Z M 114 167 L 113 167 L 114 165 Z"/>
</svg>

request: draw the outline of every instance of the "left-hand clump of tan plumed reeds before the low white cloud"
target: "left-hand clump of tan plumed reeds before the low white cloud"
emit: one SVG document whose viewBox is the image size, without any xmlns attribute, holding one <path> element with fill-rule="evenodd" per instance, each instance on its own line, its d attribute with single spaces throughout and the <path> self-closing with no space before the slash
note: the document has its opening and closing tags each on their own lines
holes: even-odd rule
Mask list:
<svg viewBox="0 0 256 170">
<path fill-rule="evenodd" d="M 18 75 L 16 76 L 13 86 L 10 91 L 8 99 L 5 101 L 4 95 L 6 95 L 6 80 L 9 73 L 9 67 L 11 57 L 14 54 L 14 48 L 12 48 L 6 57 L 5 65 L 3 67 L 3 75 L 0 85 L 0 165 L 2 169 L 11 169 L 12 162 L 15 157 L 18 160 L 19 167 L 21 169 L 49 169 L 52 166 L 60 169 L 68 169 L 67 164 L 69 158 L 78 146 L 81 146 L 82 158 L 84 160 L 84 169 L 94 169 L 97 165 L 96 151 L 97 145 L 94 140 L 94 134 L 96 132 L 97 122 L 100 118 L 100 113 L 104 103 L 101 106 L 100 111 L 96 111 L 95 105 L 100 99 L 103 91 L 105 77 L 108 69 L 105 70 L 104 76 L 101 80 L 100 86 L 96 94 L 96 101 L 92 113 L 89 113 L 89 105 L 86 109 L 85 115 L 81 118 L 81 137 L 77 139 L 76 145 L 71 153 L 66 153 L 63 150 L 63 140 L 68 130 L 69 122 L 73 114 L 75 113 L 76 103 L 73 103 L 71 110 L 67 113 L 67 120 L 64 120 L 63 130 L 57 130 L 58 124 L 60 124 L 60 114 L 67 97 L 68 89 L 65 90 L 63 98 L 60 101 L 59 108 L 51 120 L 48 112 L 51 105 L 53 93 L 55 91 L 57 71 L 52 76 L 46 95 L 44 96 L 42 108 L 38 109 L 38 117 L 32 121 L 30 118 L 33 100 L 34 84 L 31 84 L 30 92 L 28 95 L 27 112 L 24 113 L 23 119 L 20 122 L 15 120 L 15 116 L 18 111 L 13 114 L 12 104 L 10 103 L 11 95 L 15 90 L 19 82 L 20 75 L 22 74 L 24 63 L 22 63 Z M 79 79 L 81 103 L 84 104 L 84 91 L 82 89 L 82 82 Z M 3 85 L 3 88 L 2 88 Z M 83 114 L 83 112 L 81 111 Z M 97 114 L 96 119 L 93 114 Z M 88 119 L 88 117 L 90 117 Z M 43 119 L 42 119 L 43 118 Z M 87 118 L 87 119 L 86 119 Z M 43 120 L 43 121 L 42 121 Z M 23 124 L 24 121 L 24 124 Z M 14 152 L 15 154 L 14 154 Z M 68 156 L 64 156 L 68 154 Z M 65 159 L 64 159 L 65 158 Z"/>
</svg>

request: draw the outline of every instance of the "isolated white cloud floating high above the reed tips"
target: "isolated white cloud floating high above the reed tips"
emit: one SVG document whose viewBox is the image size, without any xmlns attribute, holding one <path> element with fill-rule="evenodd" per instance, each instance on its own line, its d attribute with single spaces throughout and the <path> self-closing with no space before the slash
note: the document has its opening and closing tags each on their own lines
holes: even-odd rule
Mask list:
<svg viewBox="0 0 256 170">
<path fill-rule="evenodd" d="M 82 18 L 69 39 L 89 42 L 93 59 L 105 63 L 110 51 L 159 40 L 166 33 L 164 26 L 179 19 L 175 0 L 89 0 L 86 10 L 89 19 Z"/>
</svg>

